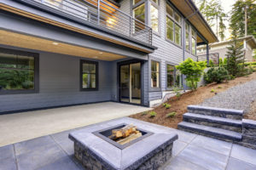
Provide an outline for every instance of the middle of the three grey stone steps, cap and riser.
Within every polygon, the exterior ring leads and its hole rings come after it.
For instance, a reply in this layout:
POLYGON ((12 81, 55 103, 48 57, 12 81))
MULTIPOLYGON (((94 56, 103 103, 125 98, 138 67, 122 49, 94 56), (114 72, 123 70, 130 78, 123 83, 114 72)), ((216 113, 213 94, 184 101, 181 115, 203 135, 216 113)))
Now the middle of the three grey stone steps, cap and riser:
POLYGON ((195 113, 185 113, 183 114, 183 121, 241 133, 242 123, 239 120, 228 119, 218 116, 200 115, 195 113))

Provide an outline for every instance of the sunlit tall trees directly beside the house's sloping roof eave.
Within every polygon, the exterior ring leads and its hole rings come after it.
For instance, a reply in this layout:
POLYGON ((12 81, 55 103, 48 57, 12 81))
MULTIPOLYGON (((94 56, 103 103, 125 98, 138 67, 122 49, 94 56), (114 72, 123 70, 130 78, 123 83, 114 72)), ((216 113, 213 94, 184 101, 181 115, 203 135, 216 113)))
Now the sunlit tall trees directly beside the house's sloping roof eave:
POLYGON ((216 27, 215 34, 217 37, 219 36, 221 40, 224 40, 226 29, 224 20, 226 20, 227 14, 224 13, 221 2, 218 0, 196 0, 195 3, 199 6, 201 14, 204 15, 209 25, 216 27))

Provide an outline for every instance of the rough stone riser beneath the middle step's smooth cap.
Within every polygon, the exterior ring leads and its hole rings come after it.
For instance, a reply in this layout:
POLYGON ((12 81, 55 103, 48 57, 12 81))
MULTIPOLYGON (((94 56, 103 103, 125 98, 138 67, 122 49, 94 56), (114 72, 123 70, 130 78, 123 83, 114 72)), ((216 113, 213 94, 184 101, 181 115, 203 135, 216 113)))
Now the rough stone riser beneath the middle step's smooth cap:
POLYGON ((236 126, 232 126, 232 125, 223 125, 223 124, 219 124, 218 122, 207 122, 205 120, 191 119, 190 117, 183 117, 183 121, 184 122, 192 122, 192 123, 199 124, 199 125, 205 125, 208 127, 222 128, 225 130, 230 130, 230 131, 235 131, 237 133, 241 133, 241 127, 236 127, 236 126))

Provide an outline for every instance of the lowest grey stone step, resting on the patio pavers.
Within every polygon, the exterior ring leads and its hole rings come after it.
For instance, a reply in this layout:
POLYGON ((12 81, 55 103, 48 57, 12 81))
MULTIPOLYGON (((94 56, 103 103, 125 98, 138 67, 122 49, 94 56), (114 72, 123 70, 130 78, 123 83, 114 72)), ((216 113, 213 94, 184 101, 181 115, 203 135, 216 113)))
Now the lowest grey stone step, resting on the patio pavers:
POLYGON ((178 123, 177 128, 190 133, 197 133, 215 139, 222 139, 224 141, 241 141, 241 133, 224 130, 222 128, 207 127, 204 125, 198 125, 191 122, 180 122, 178 123))

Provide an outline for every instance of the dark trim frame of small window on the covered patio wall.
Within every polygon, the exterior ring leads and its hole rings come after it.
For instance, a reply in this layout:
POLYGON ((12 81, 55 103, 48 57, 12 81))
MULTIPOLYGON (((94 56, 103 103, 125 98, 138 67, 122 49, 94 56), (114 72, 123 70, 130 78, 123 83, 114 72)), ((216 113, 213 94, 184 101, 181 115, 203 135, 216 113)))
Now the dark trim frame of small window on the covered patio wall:
POLYGON ((80 59, 80 91, 98 91, 99 89, 99 63, 97 61, 80 59), (89 63, 96 65, 96 88, 83 88, 83 64, 89 63))

